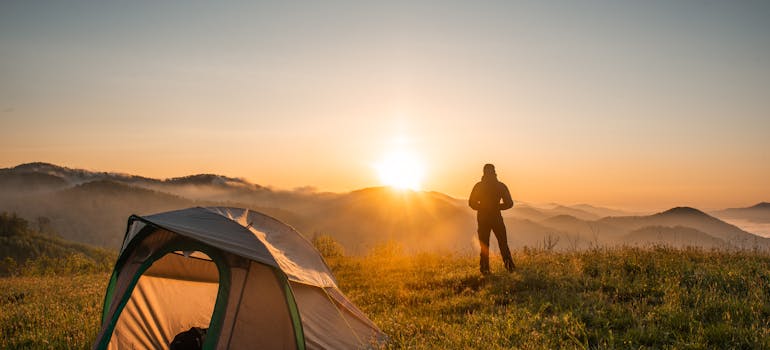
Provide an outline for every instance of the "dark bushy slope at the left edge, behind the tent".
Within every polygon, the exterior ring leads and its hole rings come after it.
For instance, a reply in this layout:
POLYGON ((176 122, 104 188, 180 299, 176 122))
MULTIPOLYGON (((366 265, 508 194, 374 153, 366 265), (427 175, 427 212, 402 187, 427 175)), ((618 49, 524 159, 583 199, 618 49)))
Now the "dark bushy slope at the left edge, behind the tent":
POLYGON ((115 252, 66 241, 15 213, 0 213, 0 276, 106 272, 115 258, 115 252))

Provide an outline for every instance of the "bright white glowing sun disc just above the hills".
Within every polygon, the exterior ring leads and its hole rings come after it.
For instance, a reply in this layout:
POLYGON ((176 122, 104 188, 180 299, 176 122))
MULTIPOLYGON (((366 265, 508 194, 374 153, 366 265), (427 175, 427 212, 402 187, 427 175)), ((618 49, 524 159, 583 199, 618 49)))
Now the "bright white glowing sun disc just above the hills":
POLYGON ((413 153, 392 152, 374 167, 380 181, 385 186, 414 191, 418 191, 422 187, 425 166, 413 153))

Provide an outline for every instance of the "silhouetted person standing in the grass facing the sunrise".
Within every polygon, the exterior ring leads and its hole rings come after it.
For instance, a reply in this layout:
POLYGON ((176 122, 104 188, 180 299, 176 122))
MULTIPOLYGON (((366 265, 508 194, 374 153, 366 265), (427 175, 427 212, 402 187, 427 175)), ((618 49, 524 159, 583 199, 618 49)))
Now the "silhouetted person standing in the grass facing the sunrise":
POLYGON ((515 265, 511 258, 511 250, 508 248, 508 237, 505 232, 505 223, 501 210, 513 207, 513 199, 508 186, 497 181, 495 166, 484 165, 484 175, 481 181, 473 186, 468 205, 476 210, 476 219, 479 224, 479 245, 481 246, 481 273, 489 273, 489 231, 495 232, 497 244, 500 246, 500 254, 503 256, 505 269, 513 271, 515 265))

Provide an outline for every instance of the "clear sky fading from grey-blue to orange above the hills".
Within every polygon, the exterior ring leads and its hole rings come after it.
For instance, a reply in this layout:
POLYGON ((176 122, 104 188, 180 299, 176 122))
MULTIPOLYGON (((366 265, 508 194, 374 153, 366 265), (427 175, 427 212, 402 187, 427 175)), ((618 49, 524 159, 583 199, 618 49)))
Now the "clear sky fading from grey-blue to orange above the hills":
POLYGON ((767 1, 2 1, 0 167, 770 201, 767 1), (381 174, 379 174, 381 175, 381 174))

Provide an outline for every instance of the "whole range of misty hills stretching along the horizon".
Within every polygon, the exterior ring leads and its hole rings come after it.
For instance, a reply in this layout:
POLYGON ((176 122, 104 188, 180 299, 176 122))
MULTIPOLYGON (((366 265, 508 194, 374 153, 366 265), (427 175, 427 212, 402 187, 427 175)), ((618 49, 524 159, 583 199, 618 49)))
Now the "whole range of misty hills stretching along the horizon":
MULTIPOLYGON (((109 249, 120 247, 131 214, 217 205, 262 211, 309 238, 330 235, 354 254, 387 241, 398 242, 411 252, 471 252, 477 246, 475 213, 467 200, 439 192, 385 187, 347 193, 279 191, 216 174, 152 179, 48 163, 0 169, 0 211, 46 223, 65 239, 109 249)), ((762 211, 766 206, 761 203, 744 209, 762 211)), ((684 232, 691 240, 703 238, 703 242, 693 244, 696 246, 770 247, 768 239, 694 208, 673 208, 654 215, 618 214, 628 213, 588 204, 541 208, 517 201, 513 209, 504 212, 504 218, 513 248, 550 245, 582 249, 644 242, 653 240, 650 230, 678 234, 676 237, 684 237, 684 232)), ((495 246, 492 243, 493 249, 495 246)))

